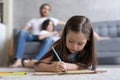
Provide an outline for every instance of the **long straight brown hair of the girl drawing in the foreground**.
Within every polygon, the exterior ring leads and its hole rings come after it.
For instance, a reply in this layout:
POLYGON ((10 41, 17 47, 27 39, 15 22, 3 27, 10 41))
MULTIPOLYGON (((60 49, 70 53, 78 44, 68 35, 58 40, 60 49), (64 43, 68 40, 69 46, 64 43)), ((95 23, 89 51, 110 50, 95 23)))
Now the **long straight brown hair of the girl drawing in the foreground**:
MULTIPOLYGON (((53 45, 63 61, 66 61, 67 54, 69 53, 66 47, 66 35, 68 34, 68 31, 73 31, 76 33, 82 32, 88 37, 88 41, 85 47, 83 50, 79 51, 80 54, 78 56, 81 64, 85 64, 86 67, 92 65, 93 70, 95 70, 97 61, 93 29, 90 20, 85 16, 73 16, 67 21, 61 39, 53 45)), ((53 54, 53 51, 50 50, 48 54, 46 54, 43 58, 51 56, 53 54)), ((55 60, 55 58, 53 60, 55 60)))

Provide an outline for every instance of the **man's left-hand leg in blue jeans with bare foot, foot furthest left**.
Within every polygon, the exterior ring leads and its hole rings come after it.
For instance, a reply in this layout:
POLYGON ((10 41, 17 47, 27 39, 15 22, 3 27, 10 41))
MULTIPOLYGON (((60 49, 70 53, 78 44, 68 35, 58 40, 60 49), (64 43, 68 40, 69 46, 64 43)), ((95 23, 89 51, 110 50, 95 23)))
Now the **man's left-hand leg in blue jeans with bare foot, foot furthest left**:
POLYGON ((22 66, 22 58, 24 54, 25 42, 32 41, 34 39, 33 35, 29 34, 28 31, 20 30, 18 33, 18 41, 15 48, 15 58, 16 61, 10 67, 20 67, 22 66))

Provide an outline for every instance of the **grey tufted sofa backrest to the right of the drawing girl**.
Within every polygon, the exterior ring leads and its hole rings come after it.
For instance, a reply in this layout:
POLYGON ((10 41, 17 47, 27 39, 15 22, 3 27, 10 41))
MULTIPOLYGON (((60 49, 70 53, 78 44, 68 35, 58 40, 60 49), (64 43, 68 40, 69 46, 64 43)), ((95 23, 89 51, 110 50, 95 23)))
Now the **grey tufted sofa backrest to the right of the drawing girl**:
POLYGON ((120 37, 120 20, 94 22, 93 29, 100 36, 120 37))

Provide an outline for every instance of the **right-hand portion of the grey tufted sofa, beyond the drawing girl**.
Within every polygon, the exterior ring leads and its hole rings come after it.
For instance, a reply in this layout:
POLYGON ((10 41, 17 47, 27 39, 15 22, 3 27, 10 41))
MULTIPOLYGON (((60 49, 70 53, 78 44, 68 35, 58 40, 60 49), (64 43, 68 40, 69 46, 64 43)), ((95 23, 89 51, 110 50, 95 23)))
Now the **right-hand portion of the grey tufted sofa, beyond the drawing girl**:
POLYGON ((95 41, 99 64, 120 64, 120 20, 94 22, 93 29, 108 40, 95 41))

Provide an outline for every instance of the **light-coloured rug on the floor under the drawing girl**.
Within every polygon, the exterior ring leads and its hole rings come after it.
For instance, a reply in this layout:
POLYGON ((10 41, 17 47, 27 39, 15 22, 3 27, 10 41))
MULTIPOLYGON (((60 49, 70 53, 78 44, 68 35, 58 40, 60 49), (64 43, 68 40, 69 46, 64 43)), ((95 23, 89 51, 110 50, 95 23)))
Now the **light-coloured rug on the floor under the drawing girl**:
POLYGON ((106 70, 97 74, 70 74, 70 75, 33 75, 34 70, 29 68, 1 67, 0 72, 27 72, 27 75, 0 76, 0 80, 119 80, 120 66, 99 66, 97 70, 106 70))

